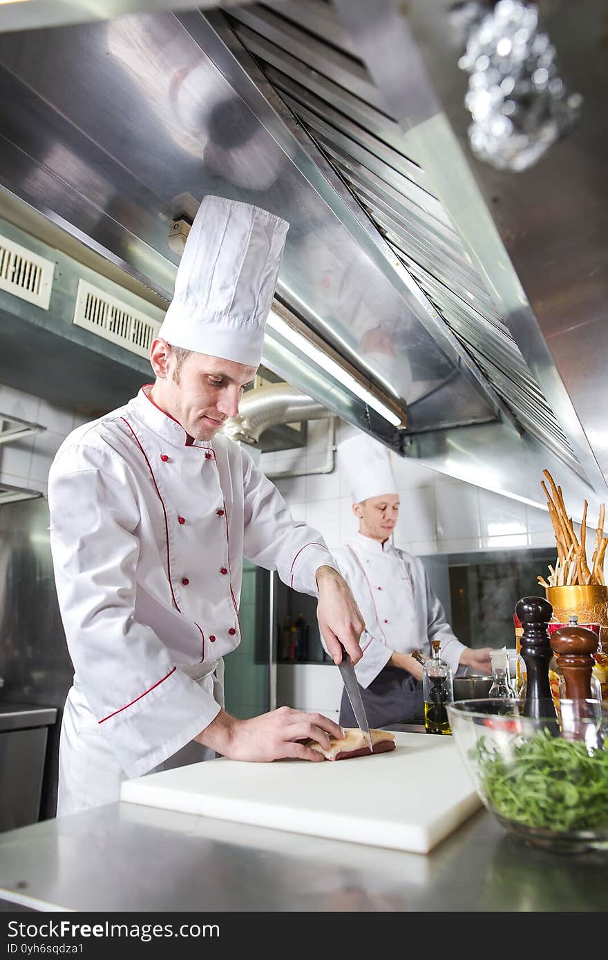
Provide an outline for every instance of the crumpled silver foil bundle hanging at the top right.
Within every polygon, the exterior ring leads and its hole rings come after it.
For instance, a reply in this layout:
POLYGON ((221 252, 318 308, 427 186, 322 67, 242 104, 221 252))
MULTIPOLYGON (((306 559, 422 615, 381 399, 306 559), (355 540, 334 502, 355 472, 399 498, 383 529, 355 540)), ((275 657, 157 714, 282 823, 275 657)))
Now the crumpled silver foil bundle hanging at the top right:
POLYGON ((471 149, 499 170, 532 166, 580 115, 583 98, 559 77, 534 4, 499 0, 474 24, 458 66, 470 74, 471 149))

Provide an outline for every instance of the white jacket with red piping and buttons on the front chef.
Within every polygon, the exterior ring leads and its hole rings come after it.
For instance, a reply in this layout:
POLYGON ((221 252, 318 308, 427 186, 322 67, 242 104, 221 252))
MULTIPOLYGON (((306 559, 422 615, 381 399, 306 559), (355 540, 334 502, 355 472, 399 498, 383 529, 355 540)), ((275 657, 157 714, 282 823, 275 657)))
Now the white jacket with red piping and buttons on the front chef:
POLYGON ((313 596, 316 570, 336 568, 249 453, 224 436, 191 442, 149 390, 73 431, 48 489, 75 669, 61 746, 70 751, 84 729, 101 733, 129 777, 217 715, 222 658, 241 639, 243 555, 313 596))

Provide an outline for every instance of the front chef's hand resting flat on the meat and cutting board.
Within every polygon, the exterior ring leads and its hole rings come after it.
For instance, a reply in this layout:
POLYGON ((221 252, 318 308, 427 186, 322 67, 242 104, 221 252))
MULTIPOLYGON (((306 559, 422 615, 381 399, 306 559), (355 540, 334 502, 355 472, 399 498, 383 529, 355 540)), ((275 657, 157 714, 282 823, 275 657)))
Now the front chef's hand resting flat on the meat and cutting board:
POLYGON ((194 739, 231 760, 264 762, 298 757, 316 763, 325 757, 307 747, 305 741, 315 740, 328 750, 329 737, 341 740, 344 731, 322 713, 280 707, 251 720, 238 720, 226 710, 220 710, 194 739))

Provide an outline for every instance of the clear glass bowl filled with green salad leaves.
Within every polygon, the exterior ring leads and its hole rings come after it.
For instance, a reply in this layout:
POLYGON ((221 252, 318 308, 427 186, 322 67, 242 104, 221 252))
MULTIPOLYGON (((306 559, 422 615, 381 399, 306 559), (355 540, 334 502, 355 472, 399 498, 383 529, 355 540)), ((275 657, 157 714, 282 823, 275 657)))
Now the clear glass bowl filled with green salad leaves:
POLYGON ((560 702, 524 716, 524 700, 450 703, 456 746, 502 827, 552 852, 608 850, 608 705, 560 702))

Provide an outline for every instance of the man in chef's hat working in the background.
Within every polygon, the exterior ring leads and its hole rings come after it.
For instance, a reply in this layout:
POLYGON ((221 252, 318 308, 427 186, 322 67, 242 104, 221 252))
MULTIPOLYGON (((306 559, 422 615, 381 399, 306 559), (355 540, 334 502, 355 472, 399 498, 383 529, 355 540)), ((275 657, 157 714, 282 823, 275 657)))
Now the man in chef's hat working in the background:
MULTIPOLYGON (((400 497, 386 446, 363 433, 338 444, 338 459, 352 491, 359 531, 332 553, 353 590, 365 620, 363 657, 355 673, 371 727, 423 723, 422 665, 431 639, 441 640, 442 660, 453 674, 488 673, 490 648, 472 649, 452 633, 422 561, 393 546, 400 497)), ((357 726, 348 696, 340 708, 343 727, 357 726)))

